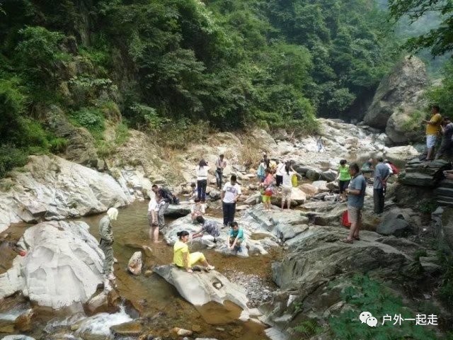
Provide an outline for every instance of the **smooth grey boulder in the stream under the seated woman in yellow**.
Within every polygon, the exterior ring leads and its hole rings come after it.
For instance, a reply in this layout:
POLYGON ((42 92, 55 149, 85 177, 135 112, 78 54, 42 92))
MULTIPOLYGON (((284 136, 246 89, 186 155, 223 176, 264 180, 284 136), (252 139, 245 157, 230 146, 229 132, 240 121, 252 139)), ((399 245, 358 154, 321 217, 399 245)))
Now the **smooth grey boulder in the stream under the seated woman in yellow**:
POLYGON ((223 304, 225 300, 229 300, 243 310, 248 309, 245 290, 217 271, 187 273, 173 265, 157 266, 153 270, 174 285, 180 295, 195 306, 211 301, 223 304))

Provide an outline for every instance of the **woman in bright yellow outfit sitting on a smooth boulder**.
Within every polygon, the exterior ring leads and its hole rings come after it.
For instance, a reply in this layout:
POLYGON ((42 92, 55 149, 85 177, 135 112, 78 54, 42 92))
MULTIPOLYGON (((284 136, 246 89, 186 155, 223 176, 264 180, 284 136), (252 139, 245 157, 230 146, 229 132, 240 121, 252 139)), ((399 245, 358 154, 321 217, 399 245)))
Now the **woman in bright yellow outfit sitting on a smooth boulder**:
POLYGON ((193 273, 192 266, 197 262, 201 262, 208 271, 214 269, 214 266, 207 263, 205 255, 200 253, 200 251, 192 254, 189 253, 189 247, 187 245, 187 242, 189 242, 189 233, 186 230, 178 232, 176 235, 178 236, 178 241, 173 246, 173 263, 176 266, 185 268, 185 271, 188 273, 193 273))

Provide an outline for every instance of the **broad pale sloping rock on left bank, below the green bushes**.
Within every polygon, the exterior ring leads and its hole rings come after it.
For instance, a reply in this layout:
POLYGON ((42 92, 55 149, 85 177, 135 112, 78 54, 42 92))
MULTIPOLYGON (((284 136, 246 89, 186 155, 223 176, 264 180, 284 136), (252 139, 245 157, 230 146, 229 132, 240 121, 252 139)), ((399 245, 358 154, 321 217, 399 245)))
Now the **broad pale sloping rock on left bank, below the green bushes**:
POLYGON ((30 156, 13 186, 0 191, 0 231, 14 222, 62 220, 105 212, 133 200, 108 174, 55 156, 30 156))

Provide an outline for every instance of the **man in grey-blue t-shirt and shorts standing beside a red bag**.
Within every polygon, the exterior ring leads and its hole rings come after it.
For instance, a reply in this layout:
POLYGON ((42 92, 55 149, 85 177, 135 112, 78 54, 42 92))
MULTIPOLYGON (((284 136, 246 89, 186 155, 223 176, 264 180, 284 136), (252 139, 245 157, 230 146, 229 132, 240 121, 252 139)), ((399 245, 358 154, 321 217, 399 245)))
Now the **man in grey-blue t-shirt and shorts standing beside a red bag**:
POLYGON ((348 193, 348 219, 351 222, 351 226, 348 238, 341 240, 341 242, 345 243, 352 243, 354 239, 360 240, 359 231, 362 225, 362 208, 365 200, 365 189, 367 188, 367 181, 360 174, 359 166, 356 163, 350 164, 349 173, 351 181, 346 193, 348 193))

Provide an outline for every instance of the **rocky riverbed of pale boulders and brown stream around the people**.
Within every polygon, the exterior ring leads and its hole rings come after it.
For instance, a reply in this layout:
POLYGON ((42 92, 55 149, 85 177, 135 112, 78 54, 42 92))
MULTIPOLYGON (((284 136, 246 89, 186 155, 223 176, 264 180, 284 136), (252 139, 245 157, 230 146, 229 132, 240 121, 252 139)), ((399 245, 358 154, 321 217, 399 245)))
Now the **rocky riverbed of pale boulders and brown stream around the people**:
MULTIPOLYGON (((192 145, 187 152, 172 155, 168 159, 172 166, 156 161, 155 150, 149 147, 149 140, 141 132, 133 132, 116 157, 105 161, 105 172, 59 157, 32 157, 25 171, 2 182, 4 189, 0 192, 0 229, 4 231, 0 237, 7 242, 21 239, 19 244, 27 252, 25 257, 16 257, 6 243, 1 245, 0 249, 5 249, 8 255, 0 263, 3 268, 0 297, 5 302, 0 307, 0 319, 4 317, 0 333, 25 329, 23 332, 35 339, 55 340, 98 340, 113 336, 115 339, 152 339, 152 336, 178 339, 179 330, 174 330, 177 327, 188 330, 190 339, 201 336, 219 340, 265 339, 266 336, 295 339, 294 329, 301 322, 316 319, 326 326, 328 315, 352 308, 342 300, 340 288, 329 286, 331 282, 343 280, 344 288, 351 282, 352 273, 367 273, 389 282, 390 288, 404 299, 424 299, 425 295, 432 299, 435 291, 430 290, 430 283, 438 280, 442 268, 428 243, 432 242, 432 235, 439 234, 435 232, 439 228, 448 238, 449 223, 442 224, 439 222, 442 218, 437 217, 437 225, 431 224, 430 218, 415 206, 397 206, 398 202, 407 202, 411 194, 404 193, 408 187, 396 183, 396 179, 389 184, 382 216, 371 212, 369 183, 364 212, 367 231, 362 232, 362 239, 355 244, 338 242, 348 232, 340 226, 345 204, 336 201, 338 183, 334 179, 338 161, 383 154, 401 164, 417 151, 411 146, 386 147, 386 136, 364 125, 323 119, 320 124, 326 145, 321 153, 316 152, 314 137, 294 140, 280 131, 273 138, 265 131, 256 130, 247 138, 231 133, 212 135, 206 145, 192 145), (252 146, 258 157, 265 151, 270 158, 294 160, 294 169, 304 176, 304 181, 294 190, 293 210, 282 211, 275 206, 265 212, 256 204, 259 194, 253 164, 243 164, 252 146), (210 250, 198 240, 190 244, 192 251, 203 251, 219 271, 219 276, 209 278, 203 273, 196 274, 200 276, 200 287, 205 284, 214 287, 210 288, 212 302, 200 306, 189 298, 191 305, 181 297, 185 296, 183 291, 187 287, 178 288, 178 278, 168 279, 176 285, 176 290, 152 271, 155 266, 171 263, 171 246, 167 244, 173 244, 179 229, 197 229, 188 217, 181 217, 188 213, 189 205, 171 207, 172 217, 168 218, 177 219, 168 220, 170 223, 163 230, 166 243, 154 245, 147 240, 144 200, 151 183, 168 183, 181 195, 194 180, 192 169, 197 159, 205 157, 213 164, 219 153, 224 153, 229 162, 224 171, 225 181, 230 174, 237 174, 243 188, 237 220, 246 230, 247 248, 237 256, 222 246, 210 250), (166 171, 166 178, 157 175, 166 171), (103 296, 99 294, 103 254, 94 238, 98 237, 101 215, 93 214, 110 206, 127 208, 120 209, 119 220, 114 223, 117 289, 113 295, 103 296), (93 216, 80 220, 84 215, 93 216), (10 227, 11 223, 21 221, 40 224, 10 227), (426 242, 422 242, 423 235, 427 236, 426 242), (141 273, 134 276, 127 272, 126 266, 137 251, 142 251, 143 266, 141 273), (248 301, 219 303, 224 301, 224 296, 230 296, 227 300, 239 298, 231 297, 234 289, 220 292, 226 295, 216 293, 216 285, 218 289, 228 285, 224 278, 233 283, 231 287, 240 286, 248 301), (417 286, 422 288, 417 296, 407 294, 408 289, 417 286), (14 295, 15 292, 18 293, 14 295), (57 319, 43 312, 43 307, 60 309, 57 319), (18 326, 16 320, 18 317, 26 320, 30 308, 34 317, 30 317, 28 324, 33 325, 29 328, 33 331, 18 326), (4 321, 5 315, 9 322, 4 321), (71 315, 77 315, 76 319, 68 319, 71 315), (103 323, 108 327, 96 328, 103 323), (270 331, 265 333, 270 326, 270 331)), ((431 184, 441 169, 430 171, 424 176, 432 176, 431 184)), ((221 223, 219 192, 214 183, 211 177, 207 214, 221 223)), ((273 203, 279 205, 280 200, 273 198, 273 203)))

